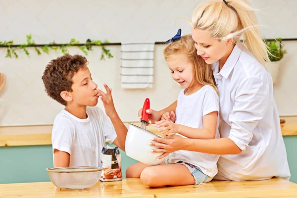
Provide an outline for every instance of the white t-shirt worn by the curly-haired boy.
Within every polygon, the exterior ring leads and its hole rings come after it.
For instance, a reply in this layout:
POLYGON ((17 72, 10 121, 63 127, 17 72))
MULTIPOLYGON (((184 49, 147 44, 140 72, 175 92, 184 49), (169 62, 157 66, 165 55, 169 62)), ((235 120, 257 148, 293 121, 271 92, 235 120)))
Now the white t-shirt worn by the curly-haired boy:
POLYGON ((87 106, 86 119, 63 109, 54 119, 52 150, 68 152, 69 166, 100 166, 105 141, 113 143, 117 135, 107 115, 97 106, 87 106))

